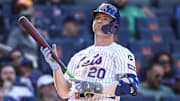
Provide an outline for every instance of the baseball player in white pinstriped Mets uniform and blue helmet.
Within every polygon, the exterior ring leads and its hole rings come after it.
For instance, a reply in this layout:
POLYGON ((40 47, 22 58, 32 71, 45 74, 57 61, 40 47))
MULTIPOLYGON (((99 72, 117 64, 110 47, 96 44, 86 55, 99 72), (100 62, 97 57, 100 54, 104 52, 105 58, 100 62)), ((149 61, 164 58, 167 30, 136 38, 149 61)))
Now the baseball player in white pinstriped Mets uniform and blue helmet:
MULTIPOLYGON (((138 79, 134 55, 114 42, 120 23, 117 8, 102 3, 93 11, 94 45, 75 54, 68 70, 75 78, 63 75, 48 48, 42 48, 53 70, 55 87, 69 101, 119 101, 121 95, 136 95, 138 79)), ((56 45, 52 45, 56 53, 56 45)))

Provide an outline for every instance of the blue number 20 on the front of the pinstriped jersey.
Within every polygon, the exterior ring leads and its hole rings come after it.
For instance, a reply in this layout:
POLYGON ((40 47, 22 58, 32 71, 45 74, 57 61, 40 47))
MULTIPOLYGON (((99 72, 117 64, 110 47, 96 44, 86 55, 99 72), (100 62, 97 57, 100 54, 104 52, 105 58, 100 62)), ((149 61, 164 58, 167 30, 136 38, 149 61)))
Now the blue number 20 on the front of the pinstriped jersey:
POLYGON ((89 69, 88 77, 103 79, 105 76, 105 73, 106 71, 104 68, 91 67, 89 69))

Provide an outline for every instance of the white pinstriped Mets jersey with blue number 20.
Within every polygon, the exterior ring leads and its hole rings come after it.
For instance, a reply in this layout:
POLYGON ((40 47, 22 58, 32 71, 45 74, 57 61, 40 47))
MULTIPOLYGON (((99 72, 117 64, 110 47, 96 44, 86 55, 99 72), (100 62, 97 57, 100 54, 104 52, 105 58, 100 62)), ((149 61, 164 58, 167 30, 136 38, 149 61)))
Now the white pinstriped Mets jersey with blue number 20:
MULTIPOLYGON (((76 79, 98 82, 108 85, 116 80, 116 74, 135 74, 134 55, 125 47, 113 42, 109 46, 92 45, 75 54, 69 64, 68 70, 76 79)), ((69 79, 68 75, 64 77, 69 79)), ((93 98, 75 99, 73 96, 68 101, 119 101, 108 98, 112 95, 97 95, 93 98)))

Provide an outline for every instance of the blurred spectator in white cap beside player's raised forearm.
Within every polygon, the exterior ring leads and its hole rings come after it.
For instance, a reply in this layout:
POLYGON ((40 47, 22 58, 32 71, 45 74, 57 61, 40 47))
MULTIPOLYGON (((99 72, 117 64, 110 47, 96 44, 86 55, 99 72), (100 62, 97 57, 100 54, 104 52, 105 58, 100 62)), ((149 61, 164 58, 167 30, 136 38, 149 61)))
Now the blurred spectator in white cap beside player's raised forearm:
POLYGON ((38 101, 63 101, 57 95, 51 75, 43 75, 37 82, 38 101))

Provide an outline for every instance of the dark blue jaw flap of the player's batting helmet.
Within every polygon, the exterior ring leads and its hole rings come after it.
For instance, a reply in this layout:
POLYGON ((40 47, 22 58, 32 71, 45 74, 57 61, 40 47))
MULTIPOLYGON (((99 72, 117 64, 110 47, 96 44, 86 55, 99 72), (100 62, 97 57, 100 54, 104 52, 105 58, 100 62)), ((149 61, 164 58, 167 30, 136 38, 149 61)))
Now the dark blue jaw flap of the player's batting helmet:
POLYGON ((117 21, 113 21, 110 24, 102 25, 101 30, 105 34, 112 34, 115 33, 118 28, 117 21))

